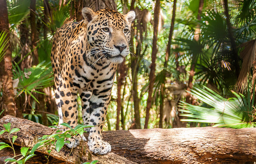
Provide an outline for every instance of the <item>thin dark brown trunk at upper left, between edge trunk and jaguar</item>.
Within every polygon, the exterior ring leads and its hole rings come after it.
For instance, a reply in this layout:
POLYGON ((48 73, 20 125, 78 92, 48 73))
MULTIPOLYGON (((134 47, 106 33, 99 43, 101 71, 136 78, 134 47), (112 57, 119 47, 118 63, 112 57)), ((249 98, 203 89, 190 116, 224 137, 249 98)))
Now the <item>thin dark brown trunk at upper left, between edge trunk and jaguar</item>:
POLYGON ((37 53, 37 42, 38 42, 38 36, 37 36, 37 24, 36 24, 36 0, 30 1, 30 25, 31 25, 31 44, 32 44, 32 55, 33 55, 33 65, 37 65, 39 63, 38 61, 38 53, 37 53))

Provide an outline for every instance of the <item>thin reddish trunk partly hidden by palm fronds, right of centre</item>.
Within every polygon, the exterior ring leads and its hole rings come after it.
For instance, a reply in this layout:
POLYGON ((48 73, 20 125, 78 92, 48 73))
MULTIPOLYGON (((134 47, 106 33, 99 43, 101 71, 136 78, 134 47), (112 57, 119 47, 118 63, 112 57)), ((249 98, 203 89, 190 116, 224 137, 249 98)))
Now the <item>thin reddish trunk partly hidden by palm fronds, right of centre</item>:
MULTIPOLYGON (((201 13, 204 7, 204 0, 200 0, 199 1, 199 7, 198 7, 198 13, 197 13, 197 20, 200 21, 201 20, 201 13)), ((194 40, 195 41, 199 41, 199 37, 200 37, 200 25, 198 24, 195 27, 195 34, 194 34, 194 40)), ((191 67, 190 67, 190 73, 189 73, 189 82, 188 82, 188 87, 187 87, 187 91, 190 91, 193 87, 193 77, 195 75, 195 62, 193 61, 193 57, 192 57, 192 62, 191 62, 191 67)), ((187 92, 186 95, 186 103, 191 103, 190 102, 190 97, 191 94, 189 92, 187 92)))

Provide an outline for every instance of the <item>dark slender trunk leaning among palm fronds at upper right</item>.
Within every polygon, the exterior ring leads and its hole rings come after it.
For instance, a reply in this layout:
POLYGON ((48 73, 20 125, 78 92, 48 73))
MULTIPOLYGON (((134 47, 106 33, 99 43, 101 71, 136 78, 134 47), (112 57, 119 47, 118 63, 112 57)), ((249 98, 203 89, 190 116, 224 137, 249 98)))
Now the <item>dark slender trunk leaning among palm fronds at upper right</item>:
POLYGON ((234 58, 234 67, 235 67, 235 71, 236 71, 236 78, 238 78, 239 73, 240 73, 238 50, 236 48, 236 42, 235 42, 234 35, 232 32, 232 25, 230 23, 230 16, 228 13, 228 0, 224 0, 223 2, 224 2, 223 5, 224 5, 225 15, 226 15, 226 22, 228 25, 228 34, 229 34, 231 49, 232 49, 233 58, 234 58))

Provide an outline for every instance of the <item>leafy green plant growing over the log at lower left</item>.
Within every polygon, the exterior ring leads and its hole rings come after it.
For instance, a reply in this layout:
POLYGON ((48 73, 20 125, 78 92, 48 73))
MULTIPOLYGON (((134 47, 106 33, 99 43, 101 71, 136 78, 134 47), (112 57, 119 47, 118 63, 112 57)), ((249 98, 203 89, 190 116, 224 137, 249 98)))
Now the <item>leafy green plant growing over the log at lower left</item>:
MULTIPOLYGON (((18 164, 24 164, 29 158, 35 156, 34 154, 35 151, 37 149, 40 149, 41 147, 46 147, 46 150, 48 151, 49 155, 50 155, 50 152, 52 151, 51 149, 52 145, 54 146, 56 151, 59 152, 65 143, 70 143, 68 140, 66 140, 66 138, 71 138, 74 135, 83 135, 84 128, 92 127, 89 125, 78 125, 73 129, 67 123, 62 123, 61 125, 66 126, 67 128, 70 128, 70 130, 67 130, 64 133, 62 133, 61 130, 57 130, 56 134, 44 135, 43 137, 39 137, 37 139, 37 143, 33 147, 22 147, 20 149, 20 154, 16 155, 15 149, 13 147, 13 143, 17 139, 17 136, 13 135, 13 137, 11 138, 10 135, 14 132, 18 132, 20 129, 19 128, 11 129, 10 122, 7 124, 4 124, 5 130, 0 131, 0 135, 2 135, 4 132, 8 132, 8 139, 11 145, 4 142, 0 142, 0 150, 6 147, 10 147, 11 149, 13 149, 13 153, 14 153, 14 156, 12 158, 7 158, 4 160, 6 162, 5 164, 7 164, 8 162, 16 162, 18 164), (15 158, 18 158, 18 159, 15 159, 15 158)), ((95 164, 98 161, 93 161, 93 162, 91 162, 91 164, 95 164)), ((87 163, 85 162, 85 164, 87 163)))

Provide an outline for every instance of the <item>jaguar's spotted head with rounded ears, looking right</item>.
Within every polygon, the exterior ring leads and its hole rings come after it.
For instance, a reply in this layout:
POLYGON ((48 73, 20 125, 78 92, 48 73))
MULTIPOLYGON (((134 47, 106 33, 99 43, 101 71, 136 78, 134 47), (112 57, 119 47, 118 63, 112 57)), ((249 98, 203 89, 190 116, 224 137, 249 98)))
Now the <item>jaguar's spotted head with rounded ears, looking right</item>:
POLYGON ((135 12, 123 15, 108 9, 94 12, 85 7, 82 15, 87 26, 86 37, 91 55, 99 55, 112 63, 121 63, 129 54, 130 26, 135 19, 135 12))

